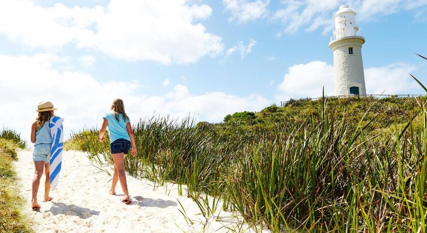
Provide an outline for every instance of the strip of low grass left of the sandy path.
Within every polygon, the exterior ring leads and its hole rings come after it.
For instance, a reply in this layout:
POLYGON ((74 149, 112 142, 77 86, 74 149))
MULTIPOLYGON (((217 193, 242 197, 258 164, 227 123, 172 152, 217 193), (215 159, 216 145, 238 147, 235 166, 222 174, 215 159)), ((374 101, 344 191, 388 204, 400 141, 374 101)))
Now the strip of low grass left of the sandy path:
POLYGON ((19 134, 7 129, 0 132, 0 232, 32 232, 19 211, 24 201, 12 165, 18 147, 25 147, 19 134))

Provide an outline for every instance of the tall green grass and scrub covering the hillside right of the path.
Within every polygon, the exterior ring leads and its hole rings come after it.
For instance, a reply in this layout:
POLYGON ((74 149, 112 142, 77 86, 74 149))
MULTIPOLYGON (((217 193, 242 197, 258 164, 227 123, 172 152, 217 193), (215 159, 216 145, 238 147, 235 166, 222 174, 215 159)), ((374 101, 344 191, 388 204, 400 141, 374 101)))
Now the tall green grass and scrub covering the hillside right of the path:
MULTIPOLYGON (((151 118, 133 126, 139 153, 126 170, 159 185, 187 184, 206 218, 222 199, 223 209, 275 232, 425 233, 426 105, 425 97, 322 98, 219 124, 151 118)), ((108 141, 97 135, 88 130, 68 143, 111 165, 108 141)))

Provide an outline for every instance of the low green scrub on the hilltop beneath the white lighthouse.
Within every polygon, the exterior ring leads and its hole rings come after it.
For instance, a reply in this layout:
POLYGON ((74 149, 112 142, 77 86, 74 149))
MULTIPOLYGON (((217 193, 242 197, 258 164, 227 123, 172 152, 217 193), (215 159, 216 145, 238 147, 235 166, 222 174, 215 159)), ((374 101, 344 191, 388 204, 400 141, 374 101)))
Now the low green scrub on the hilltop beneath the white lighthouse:
MULTIPOLYGON (((286 126, 313 121, 319 124, 322 121, 322 106, 324 112, 333 115, 337 121, 345 121, 349 130, 354 130, 358 124, 367 125, 365 133, 382 133, 393 131, 394 122, 401 128, 406 124, 409 115, 414 115, 421 109, 420 100, 427 98, 327 98, 312 101, 310 99, 290 100, 285 107, 271 105, 259 112, 236 112, 226 115, 223 123, 210 124, 200 122, 196 127, 207 131, 221 140, 257 140, 261 135, 275 135, 286 126)), ((415 127, 422 121, 416 118, 415 127)))

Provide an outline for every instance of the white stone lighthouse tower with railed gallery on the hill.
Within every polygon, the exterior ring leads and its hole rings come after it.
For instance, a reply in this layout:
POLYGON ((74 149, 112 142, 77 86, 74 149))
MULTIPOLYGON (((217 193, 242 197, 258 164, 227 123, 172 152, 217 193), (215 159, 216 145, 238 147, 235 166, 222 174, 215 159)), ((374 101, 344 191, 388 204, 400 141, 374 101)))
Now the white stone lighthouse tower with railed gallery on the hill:
POLYGON ((356 26, 356 12, 342 5, 333 19, 335 30, 329 48, 333 52, 335 95, 366 95, 362 45, 364 38, 356 26))

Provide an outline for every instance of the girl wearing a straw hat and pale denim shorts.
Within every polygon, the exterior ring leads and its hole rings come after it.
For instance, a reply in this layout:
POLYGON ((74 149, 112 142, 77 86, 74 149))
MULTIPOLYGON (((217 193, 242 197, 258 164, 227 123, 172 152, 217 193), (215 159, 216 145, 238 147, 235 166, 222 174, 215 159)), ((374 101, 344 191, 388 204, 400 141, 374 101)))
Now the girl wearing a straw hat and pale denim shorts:
POLYGON ((49 121, 53 115, 53 108, 51 102, 41 102, 36 111, 39 112, 36 122, 31 127, 31 142, 34 143, 33 161, 36 171, 33 177, 33 198, 31 207, 34 211, 40 210, 40 205, 37 202, 37 192, 39 191, 40 179, 43 175, 43 167, 45 166, 45 195, 43 202, 51 201, 49 197, 50 182, 49 182, 49 163, 50 163, 50 128, 49 121))

